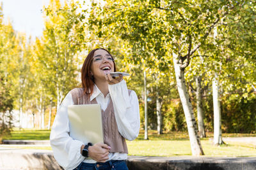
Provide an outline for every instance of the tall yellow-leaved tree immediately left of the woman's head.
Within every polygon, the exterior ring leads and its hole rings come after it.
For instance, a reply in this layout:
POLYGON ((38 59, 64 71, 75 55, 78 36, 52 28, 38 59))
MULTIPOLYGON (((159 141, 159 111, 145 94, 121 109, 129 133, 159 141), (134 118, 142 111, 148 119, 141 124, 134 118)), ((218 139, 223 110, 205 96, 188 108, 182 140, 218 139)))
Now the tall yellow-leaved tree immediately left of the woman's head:
MULTIPOLYGON (((78 82, 77 62, 78 53, 83 47, 84 27, 79 25, 84 15, 77 12, 76 4, 65 3, 61 6, 60 1, 51 0, 45 8, 45 30, 42 40, 36 43, 36 55, 44 69, 42 92, 49 92, 42 96, 50 103, 51 98, 56 99, 57 108, 67 92, 76 87, 78 82), (44 90, 45 89, 45 90, 44 90)), ((39 100, 43 101, 43 100, 39 100)), ((42 104, 41 104, 42 105, 42 104)))

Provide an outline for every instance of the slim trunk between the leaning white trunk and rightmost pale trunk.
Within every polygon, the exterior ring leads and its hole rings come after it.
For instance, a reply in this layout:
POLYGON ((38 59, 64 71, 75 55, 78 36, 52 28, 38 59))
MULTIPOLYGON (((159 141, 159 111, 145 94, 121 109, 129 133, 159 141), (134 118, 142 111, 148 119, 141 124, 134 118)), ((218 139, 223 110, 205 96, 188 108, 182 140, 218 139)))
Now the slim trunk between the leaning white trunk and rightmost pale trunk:
POLYGON ((197 108, 199 136, 200 136, 200 138, 205 138, 204 113, 203 113, 203 109, 202 109, 202 88, 201 88, 201 77, 200 76, 196 76, 196 108, 197 108))

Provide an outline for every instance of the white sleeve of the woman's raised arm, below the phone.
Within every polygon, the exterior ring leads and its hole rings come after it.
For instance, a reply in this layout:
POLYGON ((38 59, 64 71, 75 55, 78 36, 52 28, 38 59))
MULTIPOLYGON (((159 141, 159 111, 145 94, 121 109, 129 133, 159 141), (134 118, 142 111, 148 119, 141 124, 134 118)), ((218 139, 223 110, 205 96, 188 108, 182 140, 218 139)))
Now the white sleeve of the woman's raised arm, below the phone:
POLYGON ((134 91, 129 95, 124 80, 108 85, 113 101, 118 131, 124 138, 134 140, 140 131, 140 108, 138 97, 134 91))

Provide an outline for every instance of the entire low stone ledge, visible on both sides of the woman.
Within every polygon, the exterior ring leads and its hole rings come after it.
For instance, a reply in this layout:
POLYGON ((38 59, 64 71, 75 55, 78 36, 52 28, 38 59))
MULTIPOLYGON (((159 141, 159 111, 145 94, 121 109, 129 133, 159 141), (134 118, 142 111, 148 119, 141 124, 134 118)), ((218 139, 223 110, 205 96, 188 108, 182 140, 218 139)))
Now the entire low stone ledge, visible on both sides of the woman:
MULTIPOLYGON (((1 145, 0 145, 1 146, 1 145)), ((136 169, 256 170, 256 157, 140 157, 129 156, 127 166, 136 169)), ((0 169, 62 169, 51 150, 0 147, 0 169)))

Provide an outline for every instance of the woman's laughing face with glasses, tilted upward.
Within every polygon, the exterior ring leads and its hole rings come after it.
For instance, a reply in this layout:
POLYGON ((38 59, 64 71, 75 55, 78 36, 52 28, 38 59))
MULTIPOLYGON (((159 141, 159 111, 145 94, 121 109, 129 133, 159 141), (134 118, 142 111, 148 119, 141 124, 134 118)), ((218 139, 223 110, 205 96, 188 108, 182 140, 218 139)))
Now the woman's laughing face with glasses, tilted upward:
POLYGON ((112 56, 105 50, 96 50, 93 54, 92 74, 95 80, 104 78, 107 73, 114 72, 114 62, 112 56))

